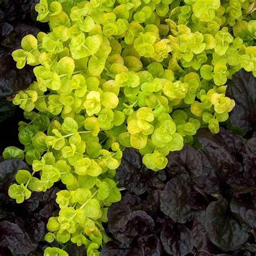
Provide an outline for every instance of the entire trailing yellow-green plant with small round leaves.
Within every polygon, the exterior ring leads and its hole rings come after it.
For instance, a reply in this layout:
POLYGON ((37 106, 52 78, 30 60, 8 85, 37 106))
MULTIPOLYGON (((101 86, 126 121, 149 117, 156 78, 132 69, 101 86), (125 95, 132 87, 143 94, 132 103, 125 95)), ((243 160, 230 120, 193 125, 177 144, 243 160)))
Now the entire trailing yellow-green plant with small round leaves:
POLYGON ((12 53, 37 78, 13 100, 29 119, 24 150, 3 154, 33 171, 20 170, 9 194, 21 203, 61 181, 45 239, 98 255, 125 147, 163 169, 199 127, 218 133, 235 105, 227 79, 241 68, 256 75, 254 1, 41 0, 36 10, 51 32, 25 36, 12 53))

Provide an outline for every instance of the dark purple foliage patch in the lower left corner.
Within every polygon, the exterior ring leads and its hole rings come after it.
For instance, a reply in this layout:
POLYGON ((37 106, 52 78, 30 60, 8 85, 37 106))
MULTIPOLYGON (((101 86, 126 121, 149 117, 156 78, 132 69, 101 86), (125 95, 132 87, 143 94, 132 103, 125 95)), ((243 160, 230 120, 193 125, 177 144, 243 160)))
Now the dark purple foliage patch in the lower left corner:
POLYGON ((29 170, 20 159, 4 160, 0 163, 0 251, 3 255, 43 255, 46 224, 58 209, 55 202, 59 188, 52 187, 45 194, 35 193, 23 204, 17 205, 8 196, 8 187, 16 182, 19 169, 29 170))

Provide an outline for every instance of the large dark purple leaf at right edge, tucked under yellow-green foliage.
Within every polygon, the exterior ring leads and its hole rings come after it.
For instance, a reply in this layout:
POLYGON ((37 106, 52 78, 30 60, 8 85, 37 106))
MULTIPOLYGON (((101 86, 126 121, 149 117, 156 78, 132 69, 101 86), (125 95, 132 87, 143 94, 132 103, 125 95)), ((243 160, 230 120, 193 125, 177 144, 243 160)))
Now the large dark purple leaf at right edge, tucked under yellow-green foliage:
POLYGON ((256 78, 252 72, 244 69, 232 76, 226 95, 235 100, 235 107, 230 112, 232 125, 241 127, 245 132, 252 130, 256 124, 256 78))

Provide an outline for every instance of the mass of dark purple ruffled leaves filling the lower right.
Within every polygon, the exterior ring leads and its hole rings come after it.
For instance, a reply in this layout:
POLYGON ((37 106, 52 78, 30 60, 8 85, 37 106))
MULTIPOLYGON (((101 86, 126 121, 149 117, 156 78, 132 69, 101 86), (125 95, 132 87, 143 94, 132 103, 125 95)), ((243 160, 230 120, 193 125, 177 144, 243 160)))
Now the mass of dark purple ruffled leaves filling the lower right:
POLYGON ((201 149, 170 153, 157 173, 125 151, 117 177, 128 192, 110 207, 114 241, 101 255, 254 255, 256 136, 243 144, 200 130, 198 139, 201 149))

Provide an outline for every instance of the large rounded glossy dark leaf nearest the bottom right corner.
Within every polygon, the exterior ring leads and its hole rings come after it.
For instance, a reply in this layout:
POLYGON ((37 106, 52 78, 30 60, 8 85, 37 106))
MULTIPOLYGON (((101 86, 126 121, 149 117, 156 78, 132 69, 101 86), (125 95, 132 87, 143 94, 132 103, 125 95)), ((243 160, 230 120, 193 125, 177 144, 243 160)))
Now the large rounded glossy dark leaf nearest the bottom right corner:
POLYGON ((226 199, 210 203, 204 218, 209 239, 223 251, 236 250, 248 239, 248 228, 232 217, 229 205, 226 199))

